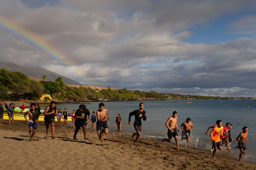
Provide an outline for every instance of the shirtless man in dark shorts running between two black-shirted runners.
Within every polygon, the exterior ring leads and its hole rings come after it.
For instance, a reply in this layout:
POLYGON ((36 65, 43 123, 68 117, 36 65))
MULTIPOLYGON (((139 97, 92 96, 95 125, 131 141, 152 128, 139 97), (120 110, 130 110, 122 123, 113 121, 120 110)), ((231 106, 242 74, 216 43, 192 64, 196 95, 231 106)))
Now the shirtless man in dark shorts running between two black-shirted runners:
POLYGON ((107 122, 106 122, 106 118, 107 118, 107 109, 104 109, 105 105, 104 103, 99 103, 98 104, 98 110, 96 112, 96 116, 97 116, 97 123, 96 123, 96 130, 97 130, 97 135, 98 135, 98 139, 102 142, 102 144, 104 145, 104 141, 102 138, 103 133, 104 134, 108 134, 108 128, 107 128, 107 122), (101 131, 101 127, 103 128, 101 131))

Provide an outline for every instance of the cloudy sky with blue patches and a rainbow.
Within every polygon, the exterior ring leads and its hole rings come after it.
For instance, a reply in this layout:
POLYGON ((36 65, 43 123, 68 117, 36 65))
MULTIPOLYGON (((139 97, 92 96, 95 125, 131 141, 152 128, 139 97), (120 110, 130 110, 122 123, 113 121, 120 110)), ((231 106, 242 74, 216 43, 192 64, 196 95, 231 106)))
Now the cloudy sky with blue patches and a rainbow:
POLYGON ((256 1, 1 0, 0 61, 84 85, 256 97, 256 1))

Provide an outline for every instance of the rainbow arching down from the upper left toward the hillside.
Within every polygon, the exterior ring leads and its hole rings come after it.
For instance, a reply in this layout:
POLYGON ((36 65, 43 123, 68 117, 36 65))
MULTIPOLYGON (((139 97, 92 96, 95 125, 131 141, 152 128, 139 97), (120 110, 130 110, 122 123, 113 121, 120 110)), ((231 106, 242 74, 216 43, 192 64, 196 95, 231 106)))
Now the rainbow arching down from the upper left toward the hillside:
POLYGON ((72 67, 73 62, 67 56, 65 56, 59 49, 57 49, 53 44, 47 41, 44 37, 36 34, 29 29, 13 22, 12 20, 3 17, 0 14, 0 28, 5 30, 6 32, 14 35, 18 39, 30 44, 36 49, 42 51, 44 54, 50 56, 53 60, 56 60, 61 65, 70 67, 73 69, 74 74, 78 74, 81 78, 83 84, 92 85, 88 79, 86 79, 83 75, 81 75, 80 70, 72 67))

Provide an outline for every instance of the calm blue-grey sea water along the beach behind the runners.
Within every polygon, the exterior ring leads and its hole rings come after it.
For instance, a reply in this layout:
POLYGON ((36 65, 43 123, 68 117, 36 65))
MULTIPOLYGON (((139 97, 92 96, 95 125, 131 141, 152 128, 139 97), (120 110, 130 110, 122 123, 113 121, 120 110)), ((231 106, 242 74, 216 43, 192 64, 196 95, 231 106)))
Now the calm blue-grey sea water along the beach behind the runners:
MULTIPOLYGON (((134 116, 131 117, 131 125, 128 125, 128 115, 133 110, 139 109, 139 103, 141 101, 119 101, 119 102, 103 102, 105 108, 108 109, 110 124, 108 125, 109 133, 131 135, 134 131, 133 122, 134 116), (117 131, 115 125, 115 118, 117 114, 120 114, 122 119, 121 129, 117 131)), ((92 113, 96 113, 98 104, 100 102, 85 102, 86 108, 92 113)), ((242 160, 246 162, 256 163, 256 100, 226 100, 226 102, 220 102, 220 100, 167 100, 163 101, 143 101, 144 110, 146 112, 146 121, 142 121, 141 138, 147 138, 151 140, 161 141, 167 138, 167 128, 165 127, 166 120, 172 116, 172 112, 177 112, 177 125, 180 132, 178 132, 179 146, 186 147, 186 140, 181 140, 181 128, 180 125, 185 122, 186 118, 190 118, 193 123, 193 130, 190 132, 189 145, 191 148, 198 150, 211 150, 210 131, 205 135, 205 132, 209 126, 216 125, 216 120, 221 120, 223 126, 228 122, 232 124, 230 150, 232 153, 228 153, 225 147, 222 151, 217 151, 217 154, 221 154, 227 157, 238 159, 239 149, 235 149, 237 141, 235 138, 242 132, 242 127, 248 127, 248 143, 246 143, 246 155, 242 156, 242 160), (191 103, 189 103, 191 102, 191 103)), ((80 104, 57 104, 56 107, 64 111, 67 109, 68 113, 72 110, 78 109, 80 104)), ((41 105, 41 109, 46 105, 41 105)), ((70 123, 70 122, 69 122, 70 123)), ((89 129, 91 124, 89 124, 89 129)), ((90 130, 89 130, 90 131, 90 130)), ((175 145, 173 139, 172 143, 175 145)), ((166 144, 167 145, 167 144, 166 144)))

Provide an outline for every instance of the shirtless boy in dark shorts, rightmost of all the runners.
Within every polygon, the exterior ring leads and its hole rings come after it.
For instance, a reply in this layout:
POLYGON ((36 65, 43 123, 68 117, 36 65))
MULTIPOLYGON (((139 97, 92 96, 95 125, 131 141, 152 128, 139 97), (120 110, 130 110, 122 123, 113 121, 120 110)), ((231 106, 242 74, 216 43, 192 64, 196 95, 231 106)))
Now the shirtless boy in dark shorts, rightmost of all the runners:
POLYGON ((238 147, 236 148, 239 148, 240 150, 239 161, 241 161, 242 154, 246 154, 245 141, 248 143, 247 135, 248 135, 248 128, 244 126, 242 128, 242 132, 238 135, 238 137, 236 137, 236 140, 238 141, 238 147))

